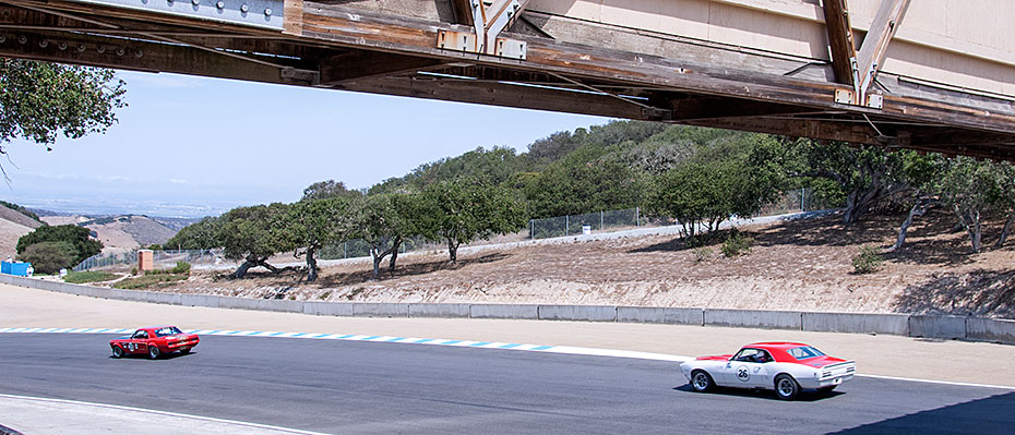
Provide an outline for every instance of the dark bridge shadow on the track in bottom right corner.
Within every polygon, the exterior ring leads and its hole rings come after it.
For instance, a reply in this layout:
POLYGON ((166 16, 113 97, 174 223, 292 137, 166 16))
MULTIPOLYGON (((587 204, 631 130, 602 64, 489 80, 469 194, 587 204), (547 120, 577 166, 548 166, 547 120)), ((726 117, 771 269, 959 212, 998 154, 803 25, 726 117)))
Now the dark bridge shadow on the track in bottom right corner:
POLYGON ((1015 392, 970 400, 921 411, 876 423, 834 432, 835 434, 1003 434, 1015 423, 1015 392))

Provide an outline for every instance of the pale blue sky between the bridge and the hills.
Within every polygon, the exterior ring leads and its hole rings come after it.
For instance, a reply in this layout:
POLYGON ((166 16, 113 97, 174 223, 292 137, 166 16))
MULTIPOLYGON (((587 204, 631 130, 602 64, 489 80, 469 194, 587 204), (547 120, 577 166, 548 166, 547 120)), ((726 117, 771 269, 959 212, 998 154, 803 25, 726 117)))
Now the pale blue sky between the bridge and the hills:
POLYGON ((524 152, 606 118, 121 72, 129 107, 104 135, 47 153, 7 144, 0 198, 57 212, 204 216, 292 202, 334 179, 368 188, 477 146, 524 152))

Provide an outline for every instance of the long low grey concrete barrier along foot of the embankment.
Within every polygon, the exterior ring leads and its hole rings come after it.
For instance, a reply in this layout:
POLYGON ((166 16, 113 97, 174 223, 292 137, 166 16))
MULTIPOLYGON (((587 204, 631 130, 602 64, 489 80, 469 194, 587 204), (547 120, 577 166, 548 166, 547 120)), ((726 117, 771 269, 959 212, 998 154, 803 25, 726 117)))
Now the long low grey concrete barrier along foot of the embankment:
POLYGON ((886 334, 1015 345, 1015 321, 923 314, 814 313, 696 307, 375 303, 248 299, 80 286, 0 275, 0 283, 92 298, 214 309, 258 310, 346 317, 461 317, 729 326, 821 333, 886 334))

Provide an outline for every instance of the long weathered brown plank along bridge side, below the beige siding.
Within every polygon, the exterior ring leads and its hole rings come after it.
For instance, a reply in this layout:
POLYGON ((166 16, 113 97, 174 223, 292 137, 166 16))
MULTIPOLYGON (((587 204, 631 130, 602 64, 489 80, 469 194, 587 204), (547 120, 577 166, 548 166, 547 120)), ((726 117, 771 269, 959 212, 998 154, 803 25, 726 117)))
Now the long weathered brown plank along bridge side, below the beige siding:
POLYGON ((304 37, 336 45, 871 116, 892 113, 910 121, 1015 133, 1015 114, 993 113, 988 119, 980 113, 974 114, 977 110, 972 108, 922 98, 886 96, 883 110, 845 106, 833 99, 834 90, 839 86, 828 83, 717 69, 681 59, 664 59, 522 35, 512 37, 528 44, 526 61, 477 56, 435 47, 433 41, 440 29, 463 31, 461 27, 362 11, 356 11, 357 20, 350 20, 353 11, 349 9, 319 3, 310 3, 304 11, 304 37), (916 105, 920 109, 910 110, 916 105))

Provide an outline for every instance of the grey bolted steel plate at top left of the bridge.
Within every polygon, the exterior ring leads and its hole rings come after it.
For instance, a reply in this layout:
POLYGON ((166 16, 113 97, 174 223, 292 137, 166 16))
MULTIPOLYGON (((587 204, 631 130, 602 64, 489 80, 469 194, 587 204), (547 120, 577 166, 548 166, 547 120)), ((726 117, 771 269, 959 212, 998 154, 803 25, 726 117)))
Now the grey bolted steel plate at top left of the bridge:
POLYGON ((284 0, 75 0, 100 4, 241 24, 272 29, 283 28, 284 0))

